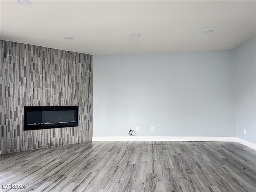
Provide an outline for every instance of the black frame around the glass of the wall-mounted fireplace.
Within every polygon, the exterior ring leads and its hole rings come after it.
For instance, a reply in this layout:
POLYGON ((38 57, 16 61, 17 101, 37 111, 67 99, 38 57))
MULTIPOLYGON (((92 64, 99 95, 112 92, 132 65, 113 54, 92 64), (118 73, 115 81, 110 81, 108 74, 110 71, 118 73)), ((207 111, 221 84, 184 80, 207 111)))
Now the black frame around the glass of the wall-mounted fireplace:
POLYGON ((77 127, 78 126, 78 106, 24 106, 24 126, 23 130, 38 130, 38 129, 51 129, 51 128, 62 128, 62 127, 77 127), (27 112, 36 111, 66 111, 74 110, 76 112, 75 122, 68 122, 62 124, 36 124, 27 125, 27 112))

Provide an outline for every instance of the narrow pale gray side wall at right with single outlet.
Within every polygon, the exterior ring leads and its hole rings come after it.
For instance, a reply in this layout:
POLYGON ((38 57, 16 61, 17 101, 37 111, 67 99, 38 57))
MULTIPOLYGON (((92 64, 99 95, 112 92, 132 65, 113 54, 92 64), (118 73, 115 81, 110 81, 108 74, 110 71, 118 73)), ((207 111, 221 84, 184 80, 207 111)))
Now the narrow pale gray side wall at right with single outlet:
POLYGON ((236 134, 238 138, 256 143, 256 38, 233 50, 236 103, 236 134), (246 134, 244 134, 246 129, 246 134))

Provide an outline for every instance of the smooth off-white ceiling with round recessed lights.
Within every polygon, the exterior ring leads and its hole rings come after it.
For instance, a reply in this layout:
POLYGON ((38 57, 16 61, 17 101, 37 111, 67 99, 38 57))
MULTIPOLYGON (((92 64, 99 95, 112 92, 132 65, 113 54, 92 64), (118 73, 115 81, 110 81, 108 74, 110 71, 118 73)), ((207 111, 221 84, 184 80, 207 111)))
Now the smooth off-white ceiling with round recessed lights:
POLYGON ((1 39, 97 55, 233 49, 256 34, 256 1, 30 2, 1 0, 1 39))

